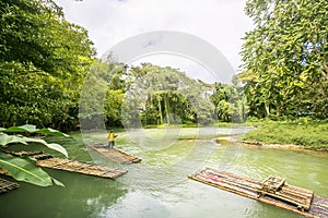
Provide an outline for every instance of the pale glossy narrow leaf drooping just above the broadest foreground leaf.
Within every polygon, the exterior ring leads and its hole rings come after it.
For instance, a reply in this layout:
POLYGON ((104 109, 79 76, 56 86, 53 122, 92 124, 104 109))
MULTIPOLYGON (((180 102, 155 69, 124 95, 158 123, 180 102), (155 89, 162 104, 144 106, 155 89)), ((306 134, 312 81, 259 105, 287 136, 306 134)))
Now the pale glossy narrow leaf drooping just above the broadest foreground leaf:
POLYGON ((67 150, 59 144, 47 143, 44 140, 25 137, 22 135, 7 135, 5 133, 0 133, 0 145, 5 146, 10 143, 22 143, 25 145, 27 143, 40 143, 40 144, 47 146, 48 148, 57 150, 57 152, 63 154, 66 157, 68 157, 67 150))

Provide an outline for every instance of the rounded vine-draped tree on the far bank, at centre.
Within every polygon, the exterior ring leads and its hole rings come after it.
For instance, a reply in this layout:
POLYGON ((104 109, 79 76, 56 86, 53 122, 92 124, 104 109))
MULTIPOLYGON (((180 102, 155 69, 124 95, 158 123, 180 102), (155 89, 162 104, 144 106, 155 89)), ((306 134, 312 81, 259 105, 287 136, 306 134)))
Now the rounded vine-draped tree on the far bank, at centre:
POLYGON ((208 95, 210 86, 189 78, 177 69, 143 63, 141 68, 131 69, 129 80, 128 104, 122 111, 129 118, 126 122, 132 121, 130 124, 207 124, 213 121, 214 106, 208 95), (132 108, 128 108, 129 105, 132 108))

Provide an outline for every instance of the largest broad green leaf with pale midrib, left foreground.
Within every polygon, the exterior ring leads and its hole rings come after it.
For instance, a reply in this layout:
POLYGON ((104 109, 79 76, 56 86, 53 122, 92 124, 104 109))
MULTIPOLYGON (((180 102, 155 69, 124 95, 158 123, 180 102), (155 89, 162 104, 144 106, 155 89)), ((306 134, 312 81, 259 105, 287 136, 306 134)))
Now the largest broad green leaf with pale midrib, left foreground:
POLYGON ((8 154, 0 153, 0 167, 7 170, 17 181, 40 186, 49 186, 52 184, 48 173, 30 159, 11 157, 8 154))

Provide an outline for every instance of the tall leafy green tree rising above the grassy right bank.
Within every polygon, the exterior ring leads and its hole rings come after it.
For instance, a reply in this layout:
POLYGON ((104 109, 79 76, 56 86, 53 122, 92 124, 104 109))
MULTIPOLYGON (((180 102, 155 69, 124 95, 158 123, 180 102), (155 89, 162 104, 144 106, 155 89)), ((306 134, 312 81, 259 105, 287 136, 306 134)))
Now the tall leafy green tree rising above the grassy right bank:
POLYGON ((255 23, 244 38, 239 74, 250 114, 327 118, 327 1, 248 0, 245 10, 255 23))

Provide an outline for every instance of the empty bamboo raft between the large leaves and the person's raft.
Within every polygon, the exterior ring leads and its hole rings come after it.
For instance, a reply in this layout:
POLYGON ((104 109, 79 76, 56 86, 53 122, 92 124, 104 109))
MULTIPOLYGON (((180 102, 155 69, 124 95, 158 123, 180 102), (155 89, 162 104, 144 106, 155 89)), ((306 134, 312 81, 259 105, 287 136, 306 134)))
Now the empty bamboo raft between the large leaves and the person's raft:
POLYGON ((97 165, 91 165, 78 160, 67 159, 67 158, 58 158, 52 155, 44 154, 43 152, 34 152, 34 153, 15 153, 15 156, 28 156, 31 158, 36 159, 36 165, 40 167, 46 167, 50 169, 65 170, 69 172, 78 172, 82 174, 89 174, 101 178, 109 178, 116 179, 125 173, 127 170, 113 169, 108 167, 102 167, 97 165))

